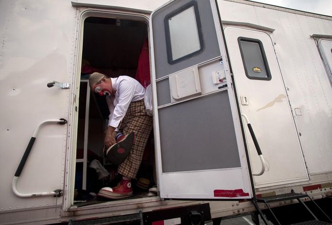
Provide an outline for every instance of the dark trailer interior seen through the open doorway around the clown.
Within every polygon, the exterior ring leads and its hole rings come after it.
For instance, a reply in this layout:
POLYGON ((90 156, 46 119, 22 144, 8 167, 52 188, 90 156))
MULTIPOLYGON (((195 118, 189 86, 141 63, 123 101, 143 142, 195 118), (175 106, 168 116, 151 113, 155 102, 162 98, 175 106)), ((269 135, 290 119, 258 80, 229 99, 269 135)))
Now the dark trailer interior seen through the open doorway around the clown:
MULTIPOLYGON (((148 52, 148 26, 144 21, 98 17, 85 19, 74 194, 77 206, 110 201, 96 194, 102 187, 115 187, 121 179, 117 174, 117 165, 110 164, 104 156, 104 132, 110 112, 105 98, 89 91, 89 76, 93 72, 108 77, 128 75, 146 87, 149 84, 149 65, 145 65, 148 78, 146 74, 142 77, 136 73, 143 51, 148 52), (84 162, 86 170, 83 169, 84 162)), ((148 189, 155 186, 154 168, 152 131, 139 172, 132 181, 133 196, 130 198, 152 196, 148 189)))

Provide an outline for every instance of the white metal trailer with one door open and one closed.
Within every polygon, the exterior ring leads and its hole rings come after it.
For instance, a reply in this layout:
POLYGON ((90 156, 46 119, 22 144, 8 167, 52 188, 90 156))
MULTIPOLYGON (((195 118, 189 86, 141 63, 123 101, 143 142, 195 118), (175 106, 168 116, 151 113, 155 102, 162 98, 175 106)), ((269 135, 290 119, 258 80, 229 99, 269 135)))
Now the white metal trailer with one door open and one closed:
POLYGON ((1 225, 217 222, 331 199, 331 17, 247 0, 0 0, 0 79, 1 225), (82 65, 135 76, 146 38, 158 196, 78 204, 107 117, 82 65))

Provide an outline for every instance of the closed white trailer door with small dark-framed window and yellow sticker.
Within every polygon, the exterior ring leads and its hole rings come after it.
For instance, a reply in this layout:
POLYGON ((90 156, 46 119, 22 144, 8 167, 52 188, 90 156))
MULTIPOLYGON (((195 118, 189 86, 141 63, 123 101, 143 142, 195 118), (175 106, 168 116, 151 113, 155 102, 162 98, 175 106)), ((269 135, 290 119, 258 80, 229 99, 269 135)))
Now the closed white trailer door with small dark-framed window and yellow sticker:
MULTIPOLYGON (((224 29, 241 113, 248 116, 266 161, 256 187, 308 180, 298 134, 272 39, 261 31, 224 29)), ((244 121, 245 124, 245 121, 244 121)), ((245 128, 253 170, 260 161, 245 128)))

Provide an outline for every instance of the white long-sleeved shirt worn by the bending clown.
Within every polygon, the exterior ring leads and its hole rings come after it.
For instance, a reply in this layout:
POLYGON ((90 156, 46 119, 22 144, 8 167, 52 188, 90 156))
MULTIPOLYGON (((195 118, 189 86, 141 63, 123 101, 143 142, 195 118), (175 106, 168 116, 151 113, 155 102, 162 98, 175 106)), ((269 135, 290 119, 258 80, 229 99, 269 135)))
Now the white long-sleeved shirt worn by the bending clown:
POLYGON ((111 78, 113 94, 106 96, 109 106, 109 126, 117 128, 125 117, 130 102, 144 99, 145 88, 130 76, 111 78))

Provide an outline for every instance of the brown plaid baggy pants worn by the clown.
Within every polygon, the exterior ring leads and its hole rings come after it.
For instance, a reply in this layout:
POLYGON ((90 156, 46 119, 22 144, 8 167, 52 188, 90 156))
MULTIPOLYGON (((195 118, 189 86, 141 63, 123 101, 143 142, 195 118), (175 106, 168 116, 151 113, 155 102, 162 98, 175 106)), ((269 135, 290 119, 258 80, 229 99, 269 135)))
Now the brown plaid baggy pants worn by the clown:
POLYGON ((131 102, 119 129, 123 134, 135 133, 135 143, 129 156, 118 168, 123 176, 131 179, 136 177, 152 127, 152 117, 146 112, 144 100, 131 102))

